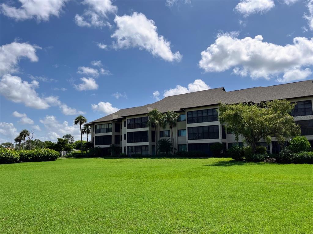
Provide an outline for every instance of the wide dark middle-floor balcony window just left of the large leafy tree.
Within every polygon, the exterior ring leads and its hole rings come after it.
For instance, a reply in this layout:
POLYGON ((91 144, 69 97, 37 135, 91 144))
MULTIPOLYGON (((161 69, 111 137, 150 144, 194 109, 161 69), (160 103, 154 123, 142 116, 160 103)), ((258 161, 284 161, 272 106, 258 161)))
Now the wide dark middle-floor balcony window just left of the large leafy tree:
POLYGON ((218 139, 218 125, 188 127, 188 140, 218 139))

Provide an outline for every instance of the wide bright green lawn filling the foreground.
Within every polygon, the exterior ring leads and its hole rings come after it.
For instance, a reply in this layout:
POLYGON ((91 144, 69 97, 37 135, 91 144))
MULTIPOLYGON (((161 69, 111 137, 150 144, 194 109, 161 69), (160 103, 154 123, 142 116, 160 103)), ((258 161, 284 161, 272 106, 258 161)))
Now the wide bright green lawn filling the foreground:
POLYGON ((67 158, 0 176, 0 233, 313 233, 313 165, 67 158))

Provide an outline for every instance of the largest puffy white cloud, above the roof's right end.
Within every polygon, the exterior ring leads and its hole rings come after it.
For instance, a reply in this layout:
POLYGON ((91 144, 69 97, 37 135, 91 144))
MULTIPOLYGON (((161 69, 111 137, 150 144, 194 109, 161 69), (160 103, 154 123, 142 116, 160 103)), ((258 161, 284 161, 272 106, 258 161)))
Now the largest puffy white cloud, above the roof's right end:
POLYGON ((313 64, 313 38, 295 37, 285 46, 263 42, 263 37, 238 39, 229 34, 218 35, 215 43, 201 52, 199 67, 205 72, 233 73, 254 79, 269 79, 290 69, 313 64))

